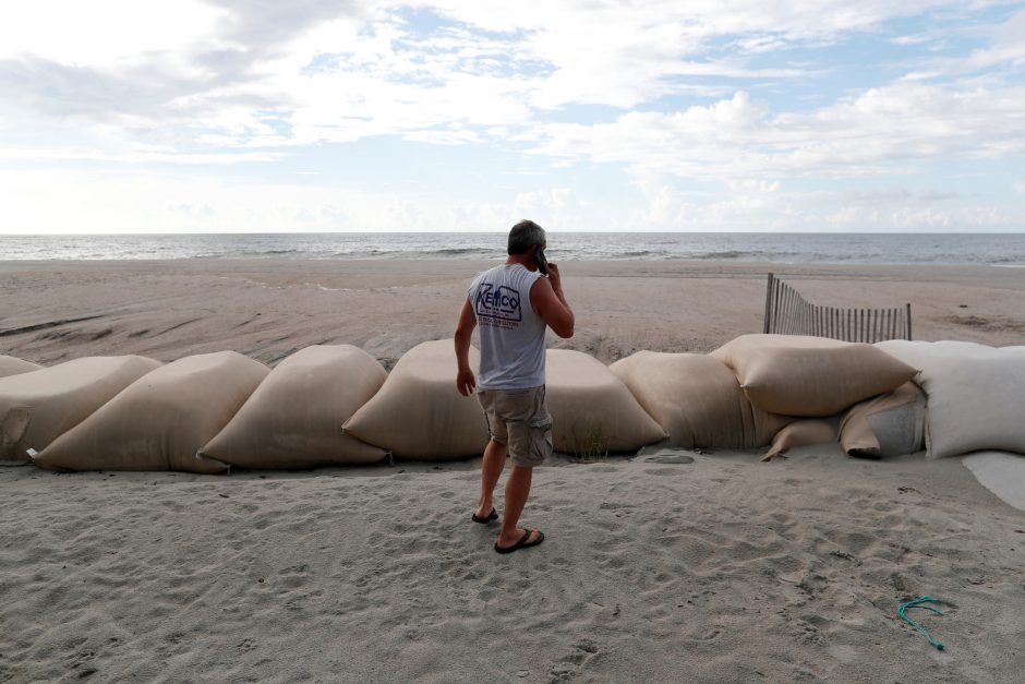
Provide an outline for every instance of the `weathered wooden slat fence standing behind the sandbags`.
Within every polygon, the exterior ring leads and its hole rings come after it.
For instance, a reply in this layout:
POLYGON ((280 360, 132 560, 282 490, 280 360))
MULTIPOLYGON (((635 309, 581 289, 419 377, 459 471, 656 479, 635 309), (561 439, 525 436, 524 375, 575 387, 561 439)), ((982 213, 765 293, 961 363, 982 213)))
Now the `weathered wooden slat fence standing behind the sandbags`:
POLYGON ((811 335, 856 343, 912 338, 911 303, 893 309, 841 309, 812 304, 769 274, 765 333, 811 335))

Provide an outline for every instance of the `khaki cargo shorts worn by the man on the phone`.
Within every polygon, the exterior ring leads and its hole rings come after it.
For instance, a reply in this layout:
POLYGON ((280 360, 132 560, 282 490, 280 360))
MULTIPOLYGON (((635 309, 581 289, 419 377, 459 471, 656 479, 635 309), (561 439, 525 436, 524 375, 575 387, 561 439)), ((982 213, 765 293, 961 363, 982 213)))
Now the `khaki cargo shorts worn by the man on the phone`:
POLYGON ((544 385, 481 389, 477 398, 491 439, 508 445, 514 466, 533 468, 552 455, 552 417, 544 405, 544 385))

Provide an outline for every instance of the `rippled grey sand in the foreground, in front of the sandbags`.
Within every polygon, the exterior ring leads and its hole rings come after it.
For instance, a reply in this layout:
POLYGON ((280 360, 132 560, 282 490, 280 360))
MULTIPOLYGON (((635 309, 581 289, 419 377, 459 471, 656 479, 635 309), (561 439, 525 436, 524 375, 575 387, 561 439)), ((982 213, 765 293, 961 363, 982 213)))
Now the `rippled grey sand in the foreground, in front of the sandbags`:
MULTIPOLYGON (((539 469, 535 549, 469 464, 0 471, 0 680, 1012 682, 1025 515, 956 459, 539 469), (940 652, 900 622, 900 601, 940 652)), ((688 460, 682 458, 680 460, 688 460)), ((499 502, 501 503, 501 502, 499 502)))

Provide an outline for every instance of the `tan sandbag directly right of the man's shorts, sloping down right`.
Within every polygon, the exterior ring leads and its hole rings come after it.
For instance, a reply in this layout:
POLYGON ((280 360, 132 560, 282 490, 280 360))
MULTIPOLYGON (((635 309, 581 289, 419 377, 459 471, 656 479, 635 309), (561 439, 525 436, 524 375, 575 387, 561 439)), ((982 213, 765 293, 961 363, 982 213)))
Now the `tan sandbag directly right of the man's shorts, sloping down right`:
POLYGON ((615 373, 582 351, 550 349, 545 403, 557 452, 598 455, 634 452, 665 439, 615 373))

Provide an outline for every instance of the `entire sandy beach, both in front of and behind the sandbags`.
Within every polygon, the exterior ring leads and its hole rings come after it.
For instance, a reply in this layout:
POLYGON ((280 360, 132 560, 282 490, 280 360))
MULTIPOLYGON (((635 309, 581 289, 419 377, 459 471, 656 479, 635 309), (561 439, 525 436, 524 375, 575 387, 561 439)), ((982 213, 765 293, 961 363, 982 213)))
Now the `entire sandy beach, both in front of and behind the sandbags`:
MULTIPOLYGON (((485 262, 2 262, 0 353, 274 365, 451 336, 485 262)), ((817 303, 911 302, 915 337, 1025 338, 1021 269, 560 265, 611 362, 761 332, 765 274, 817 303)), ((0 681, 1013 682, 1025 513, 960 458, 649 447, 538 470, 538 549, 474 525, 479 460, 231 476, 0 466, 0 681), (912 611, 940 651, 897 615, 912 611)), ((501 502, 499 502, 501 503, 501 502)))

